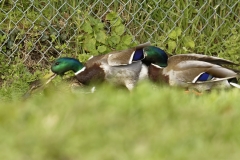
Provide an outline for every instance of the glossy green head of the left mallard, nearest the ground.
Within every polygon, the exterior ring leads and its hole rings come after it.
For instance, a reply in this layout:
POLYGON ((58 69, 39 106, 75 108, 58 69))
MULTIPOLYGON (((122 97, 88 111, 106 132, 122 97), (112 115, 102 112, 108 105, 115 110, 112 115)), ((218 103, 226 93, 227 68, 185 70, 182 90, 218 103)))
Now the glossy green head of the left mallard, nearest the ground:
POLYGON ((58 75, 63 75, 67 71, 76 73, 83 67, 84 65, 75 58, 62 57, 55 60, 51 66, 51 70, 58 75))

